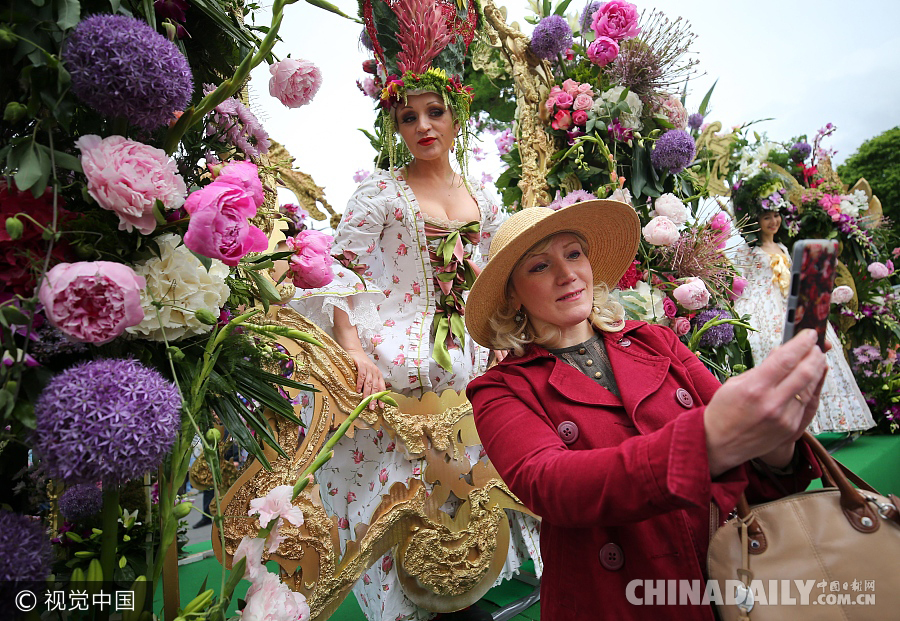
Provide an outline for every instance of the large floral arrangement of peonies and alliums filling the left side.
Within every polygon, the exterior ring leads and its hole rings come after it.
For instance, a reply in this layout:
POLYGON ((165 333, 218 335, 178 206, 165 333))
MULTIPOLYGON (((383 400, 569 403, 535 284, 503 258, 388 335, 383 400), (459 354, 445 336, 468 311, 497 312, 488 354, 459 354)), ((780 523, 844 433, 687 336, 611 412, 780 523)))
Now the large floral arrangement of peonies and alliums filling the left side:
MULTIPOLYGON (((219 427, 268 466, 265 445, 285 453, 264 410, 300 424, 284 388, 306 386, 275 339, 314 339, 253 318, 281 300, 276 261, 325 284, 332 240, 275 207, 268 134, 239 97, 263 61, 288 107, 319 88, 312 63, 271 54, 289 3, 262 38, 252 7, 218 1, 29 5, 0 24, 0 456, 35 490, 4 498, 4 580, 153 587, 201 510, 177 494, 195 438, 221 525, 219 427), (294 231, 269 252, 275 220, 294 231)), ((167 595, 164 618, 223 618, 242 575, 184 608, 167 595)))

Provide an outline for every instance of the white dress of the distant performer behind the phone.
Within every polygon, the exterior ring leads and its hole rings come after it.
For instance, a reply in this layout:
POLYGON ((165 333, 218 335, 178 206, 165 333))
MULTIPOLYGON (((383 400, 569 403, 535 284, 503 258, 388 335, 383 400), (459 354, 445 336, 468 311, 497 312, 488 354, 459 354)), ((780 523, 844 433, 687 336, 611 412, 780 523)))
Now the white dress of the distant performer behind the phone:
MULTIPOLYGON (((783 263, 789 270, 791 260, 787 248, 782 244, 778 246, 783 253, 781 256, 770 256, 759 246, 751 248, 741 244, 735 261, 748 284, 744 294, 735 301, 734 308, 740 315, 750 315, 750 325, 756 328, 756 332, 749 333, 750 349, 756 364, 780 345, 784 336, 787 290, 785 288, 782 292, 775 272, 779 263, 783 263)), ((810 433, 856 431, 874 427, 872 413, 856 385, 850 365, 844 359, 841 342, 831 324, 825 334, 831 342, 831 351, 825 354, 828 375, 822 386, 816 417, 809 424, 810 433)))

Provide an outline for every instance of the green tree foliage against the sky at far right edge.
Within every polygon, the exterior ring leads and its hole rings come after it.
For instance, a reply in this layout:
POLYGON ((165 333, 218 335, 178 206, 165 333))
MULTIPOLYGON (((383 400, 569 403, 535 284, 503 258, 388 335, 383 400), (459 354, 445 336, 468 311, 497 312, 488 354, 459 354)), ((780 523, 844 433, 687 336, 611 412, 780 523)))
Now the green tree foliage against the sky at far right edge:
POLYGON ((900 218, 900 126, 862 143, 838 166, 838 174, 850 186, 865 177, 885 215, 900 218))

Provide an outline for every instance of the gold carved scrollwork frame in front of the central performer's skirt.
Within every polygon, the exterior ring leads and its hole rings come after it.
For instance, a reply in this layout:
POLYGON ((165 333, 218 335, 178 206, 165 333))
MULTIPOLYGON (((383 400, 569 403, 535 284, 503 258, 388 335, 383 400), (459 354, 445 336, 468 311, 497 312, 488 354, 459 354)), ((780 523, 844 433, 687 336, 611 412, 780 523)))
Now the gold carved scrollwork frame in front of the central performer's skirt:
MULTIPOLYGON (((286 307, 272 307, 260 320, 302 330, 324 347, 281 338, 294 359, 294 379, 315 386, 313 413, 305 436, 297 425, 271 415, 280 446, 290 456, 281 458, 269 448, 271 471, 255 461, 240 474, 225 494, 222 507, 225 549, 218 531, 213 549, 226 567, 244 536, 255 536, 259 523, 247 516, 252 499, 278 485, 293 485, 312 462, 328 436, 359 404, 355 392, 355 366, 337 343, 318 326, 286 307)), ((297 391, 288 391, 291 397, 297 391)), ((490 462, 469 465, 466 446, 480 444, 471 405, 463 393, 426 393, 422 399, 391 395, 398 407, 365 410, 348 430, 383 429, 402 441, 408 453, 425 457, 424 479, 433 488, 426 494, 422 481, 397 482, 382 497, 368 524, 359 524, 354 539, 340 553, 337 517, 328 515, 319 486, 312 484, 295 504, 304 524, 285 523, 288 537, 269 556, 280 568, 282 580, 303 593, 311 618, 324 621, 340 606, 353 584, 388 550, 397 547, 395 567, 409 598, 435 612, 464 608, 493 585, 506 559, 509 521, 504 509, 532 515, 500 480, 490 462), (453 494, 462 500, 455 516, 440 510, 453 494)), ((299 408, 298 408, 299 409, 299 408)), ((298 412, 299 414, 299 412, 298 412)))

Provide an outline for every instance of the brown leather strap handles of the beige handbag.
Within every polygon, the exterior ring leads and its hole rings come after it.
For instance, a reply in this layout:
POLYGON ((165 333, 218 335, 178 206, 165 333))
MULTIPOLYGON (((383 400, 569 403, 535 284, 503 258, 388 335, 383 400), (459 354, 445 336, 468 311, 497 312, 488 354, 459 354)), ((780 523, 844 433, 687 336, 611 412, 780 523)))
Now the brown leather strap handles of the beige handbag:
MULTIPOLYGON (((813 456, 819 463, 823 484, 828 487, 836 487, 840 491, 841 510, 850 525, 863 533, 871 533, 878 530, 880 526, 878 513, 872 509, 868 499, 859 490, 853 487, 850 480, 852 479, 854 483, 859 485, 860 488, 865 491, 874 492, 876 494, 878 492, 871 485, 850 471, 849 468, 840 464, 829 455, 828 451, 825 450, 825 447, 822 446, 822 444, 808 431, 803 432, 802 440, 809 446, 813 456)), ((887 512, 890 513, 889 510, 887 512)), ((896 521, 896 514, 897 510, 895 507, 893 515, 884 515, 884 517, 896 521)), ((741 494, 741 497, 738 500, 737 515, 742 521, 747 523, 748 535, 751 540, 750 553, 761 554, 764 552, 767 547, 765 533, 763 532, 759 521, 752 515, 745 494, 741 494)))

